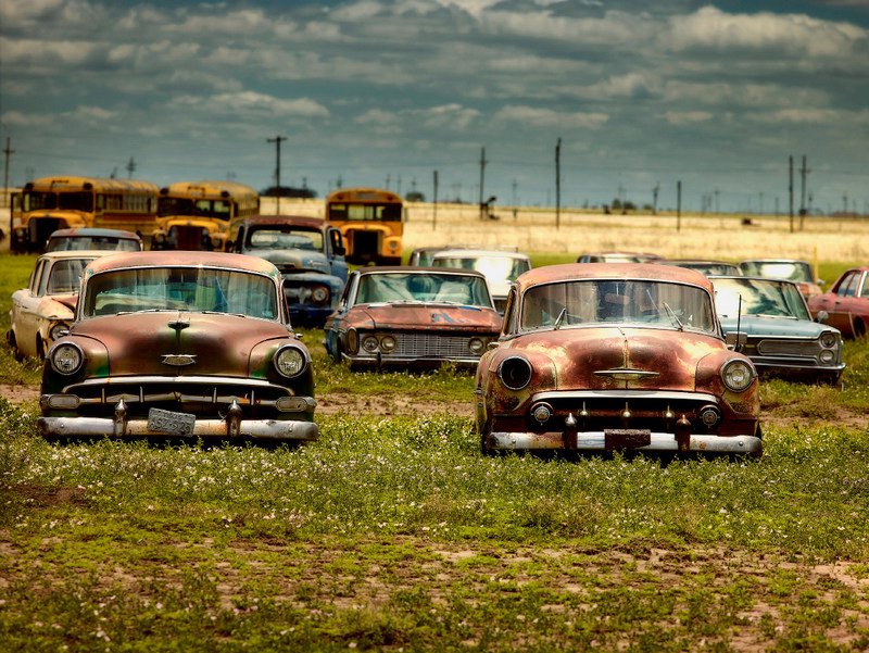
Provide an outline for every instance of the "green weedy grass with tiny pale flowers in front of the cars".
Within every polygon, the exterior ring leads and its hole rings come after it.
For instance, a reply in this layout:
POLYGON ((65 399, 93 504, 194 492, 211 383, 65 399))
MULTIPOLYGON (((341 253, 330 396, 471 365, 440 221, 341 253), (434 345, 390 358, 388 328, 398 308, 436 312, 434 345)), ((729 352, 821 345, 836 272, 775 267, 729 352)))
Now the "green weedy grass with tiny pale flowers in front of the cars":
POLYGON ((448 414, 322 418, 293 451, 33 419, 0 402, 4 650, 866 645, 865 430, 662 466, 482 459, 448 414))

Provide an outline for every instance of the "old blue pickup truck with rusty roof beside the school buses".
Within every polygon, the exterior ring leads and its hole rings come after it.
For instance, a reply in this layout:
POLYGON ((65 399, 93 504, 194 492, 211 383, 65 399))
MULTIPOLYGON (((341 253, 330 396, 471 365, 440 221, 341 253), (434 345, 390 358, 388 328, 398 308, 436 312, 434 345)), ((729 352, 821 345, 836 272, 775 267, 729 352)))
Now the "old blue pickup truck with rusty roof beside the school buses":
POLYGON ((341 231, 316 217, 254 215, 235 230, 231 251, 265 259, 280 271, 293 326, 322 327, 344 290, 341 231))

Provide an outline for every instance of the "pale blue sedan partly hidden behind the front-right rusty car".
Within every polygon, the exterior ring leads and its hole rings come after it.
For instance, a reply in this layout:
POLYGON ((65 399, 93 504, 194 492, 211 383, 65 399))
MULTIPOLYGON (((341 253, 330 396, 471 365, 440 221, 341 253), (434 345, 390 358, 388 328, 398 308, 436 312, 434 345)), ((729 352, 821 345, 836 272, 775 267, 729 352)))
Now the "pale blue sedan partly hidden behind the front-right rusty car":
POLYGON ((842 334, 814 322, 794 281, 758 277, 709 277, 728 342, 747 355, 757 371, 803 381, 839 384, 842 334))

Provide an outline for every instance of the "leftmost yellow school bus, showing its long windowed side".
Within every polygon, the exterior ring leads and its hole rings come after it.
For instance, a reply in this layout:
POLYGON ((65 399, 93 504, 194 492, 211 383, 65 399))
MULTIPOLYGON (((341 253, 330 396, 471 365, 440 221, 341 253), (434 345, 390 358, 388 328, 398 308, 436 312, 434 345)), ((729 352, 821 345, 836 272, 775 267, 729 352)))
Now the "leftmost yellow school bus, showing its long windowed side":
POLYGON ((12 251, 42 251, 52 231, 76 227, 126 229, 147 239, 154 230, 156 192, 155 185, 136 179, 56 176, 28 181, 12 226, 12 251))

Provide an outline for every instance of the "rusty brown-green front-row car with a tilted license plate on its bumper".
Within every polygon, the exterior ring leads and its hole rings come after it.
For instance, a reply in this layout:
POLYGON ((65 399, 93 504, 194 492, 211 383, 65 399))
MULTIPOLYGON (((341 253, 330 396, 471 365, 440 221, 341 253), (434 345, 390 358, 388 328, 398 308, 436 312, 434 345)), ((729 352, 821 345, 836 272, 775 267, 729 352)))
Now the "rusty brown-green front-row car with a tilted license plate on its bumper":
POLYGON ((47 438, 315 440, 311 354, 277 268, 217 252, 111 254, 84 271, 46 355, 47 438))

